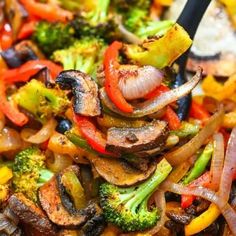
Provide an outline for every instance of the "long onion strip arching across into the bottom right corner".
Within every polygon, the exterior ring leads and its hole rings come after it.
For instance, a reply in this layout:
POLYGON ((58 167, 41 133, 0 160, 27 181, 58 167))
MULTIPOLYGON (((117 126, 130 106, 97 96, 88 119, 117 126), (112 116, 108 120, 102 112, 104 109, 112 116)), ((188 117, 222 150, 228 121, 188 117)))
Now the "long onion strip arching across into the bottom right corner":
POLYGON ((165 181, 164 183, 162 183, 160 188, 165 191, 170 191, 181 195, 185 194, 199 196, 212 203, 215 203, 220 209, 222 215, 225 217, 231 232, 233 233, 233 235, 236 235, 236 212, 227 202, 223 202, 214 191, 203 187, 189 188, 181 184, 172 183, 170 181, 165 181))

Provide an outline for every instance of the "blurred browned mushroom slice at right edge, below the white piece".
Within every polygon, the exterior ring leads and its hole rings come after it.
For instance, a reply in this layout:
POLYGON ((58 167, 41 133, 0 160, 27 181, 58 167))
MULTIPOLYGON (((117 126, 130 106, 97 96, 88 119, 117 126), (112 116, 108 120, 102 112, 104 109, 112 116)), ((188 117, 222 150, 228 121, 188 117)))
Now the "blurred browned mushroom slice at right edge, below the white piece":
POLYGON ((236 73, 236 55, 220 53, 214 57, 199 57, 191 54, 187 63, 187 69, 194 72, 199 66, 203 69, 205 75, 228 77, 236 73))

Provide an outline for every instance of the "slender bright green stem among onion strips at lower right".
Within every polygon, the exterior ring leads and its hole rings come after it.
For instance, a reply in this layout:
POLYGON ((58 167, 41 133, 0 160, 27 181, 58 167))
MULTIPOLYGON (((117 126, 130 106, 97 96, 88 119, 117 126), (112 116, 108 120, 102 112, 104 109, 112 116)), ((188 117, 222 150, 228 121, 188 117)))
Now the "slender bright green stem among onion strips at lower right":
POLYGON ((202 154, 198 157, 193 168, 190 170, 189 174, 184 179, 183 184, 189 184, 191 181, 202 175, 211 159, 213 150, 213 144, 208 143, 205 149, 203 150, 202 154))

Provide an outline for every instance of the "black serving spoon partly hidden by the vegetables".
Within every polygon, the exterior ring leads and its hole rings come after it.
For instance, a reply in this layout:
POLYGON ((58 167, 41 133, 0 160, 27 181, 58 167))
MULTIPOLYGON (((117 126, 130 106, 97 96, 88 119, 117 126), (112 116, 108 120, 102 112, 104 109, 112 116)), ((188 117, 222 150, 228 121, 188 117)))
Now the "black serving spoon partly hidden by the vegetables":
MULTIPOLYGON (((177 23, 181 25, 189 34, 190 38, 193 39, 197 31, 198 25, 210 4, 211 0, 188 0, 181 12, 177 23)), ((181 57, 176 60, 176 64, 179 67, 178 74, 176 75, 173 87, 179 87, 187 81, 186 78, 186 64, 190 50, 186 51, 181 57)), ((191 94, 182 97, 177 101, 178 109, 177 114, 180 120, 187 118, 190 104, 191 94)))

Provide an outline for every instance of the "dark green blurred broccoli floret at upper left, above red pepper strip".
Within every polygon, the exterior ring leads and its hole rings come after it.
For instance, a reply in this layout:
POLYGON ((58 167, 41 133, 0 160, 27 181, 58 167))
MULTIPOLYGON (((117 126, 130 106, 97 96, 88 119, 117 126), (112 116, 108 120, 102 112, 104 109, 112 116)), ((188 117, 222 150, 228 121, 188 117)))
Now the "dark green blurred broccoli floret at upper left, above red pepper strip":
POLYGON ((74 29, 69 24, 41 21, 36 26, 33 40, 47 56, 50 56, 53 51, 73 43, 74 29))

